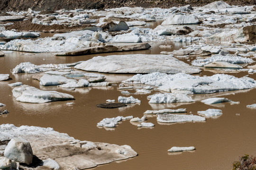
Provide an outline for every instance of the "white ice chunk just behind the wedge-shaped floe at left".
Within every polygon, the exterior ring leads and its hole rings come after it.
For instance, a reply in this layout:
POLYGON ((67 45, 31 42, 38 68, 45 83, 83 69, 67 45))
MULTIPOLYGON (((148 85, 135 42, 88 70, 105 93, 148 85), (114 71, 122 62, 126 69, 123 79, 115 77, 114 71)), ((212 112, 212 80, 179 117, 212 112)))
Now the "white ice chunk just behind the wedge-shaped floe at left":
MULTIPOLYGON (((40 85, 62 85, 66 83, 73 82, 74 84, 77 82, 74 79, 68 79, 64 76, 55 76, 55 75, 48 75, 45 74, 40 79, 40 85)), ((88 82, 89 83, 89 82, 88 82)))

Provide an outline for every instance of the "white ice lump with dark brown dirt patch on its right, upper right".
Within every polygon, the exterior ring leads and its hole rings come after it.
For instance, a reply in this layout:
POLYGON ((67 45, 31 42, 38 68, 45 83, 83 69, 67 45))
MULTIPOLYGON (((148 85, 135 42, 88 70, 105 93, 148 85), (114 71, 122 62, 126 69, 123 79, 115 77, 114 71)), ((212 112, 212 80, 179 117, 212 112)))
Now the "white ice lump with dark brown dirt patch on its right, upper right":
POLYGON ((183 35, 189 34, 193 30, 188 26, 157 26, 153 30, 158 35, 183 35))

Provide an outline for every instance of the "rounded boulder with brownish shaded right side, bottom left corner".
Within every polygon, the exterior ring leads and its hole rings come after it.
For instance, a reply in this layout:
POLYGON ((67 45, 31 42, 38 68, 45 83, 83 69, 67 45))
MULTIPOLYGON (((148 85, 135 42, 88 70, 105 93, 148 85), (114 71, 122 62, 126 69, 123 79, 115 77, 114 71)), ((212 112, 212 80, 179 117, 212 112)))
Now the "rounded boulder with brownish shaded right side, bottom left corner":
POLYGON ((33 160, 33 151, 27 140, 22 137, 13 138, 6 146, 4 156, 19 163, 29 165, 33 160))

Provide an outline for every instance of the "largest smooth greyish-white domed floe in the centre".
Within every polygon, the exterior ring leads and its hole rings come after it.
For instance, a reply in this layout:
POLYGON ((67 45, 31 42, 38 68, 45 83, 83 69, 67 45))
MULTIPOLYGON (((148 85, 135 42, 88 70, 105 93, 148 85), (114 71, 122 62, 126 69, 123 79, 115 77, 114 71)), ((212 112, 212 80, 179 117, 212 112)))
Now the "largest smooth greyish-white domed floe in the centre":
POLYGON ((105 73, 200 73, 201 70, 168 55, 127 54, 98 56, 74 68, 105 73))

